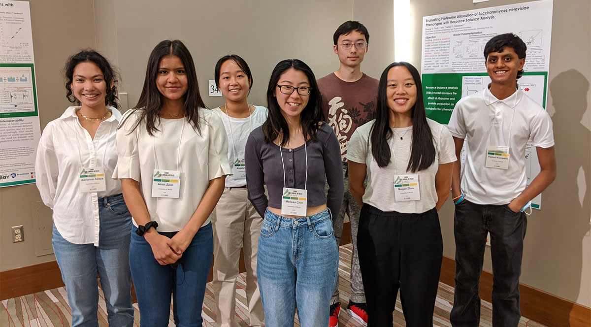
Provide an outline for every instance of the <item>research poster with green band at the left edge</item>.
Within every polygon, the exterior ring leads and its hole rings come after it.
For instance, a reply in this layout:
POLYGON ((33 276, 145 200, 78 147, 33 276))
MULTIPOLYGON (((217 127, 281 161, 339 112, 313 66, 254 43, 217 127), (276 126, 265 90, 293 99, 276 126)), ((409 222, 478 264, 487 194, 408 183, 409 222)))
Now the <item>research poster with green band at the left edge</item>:
POLYGON ((29 3, 0 0, 0 187, 35 183, 41 137, 29 3))

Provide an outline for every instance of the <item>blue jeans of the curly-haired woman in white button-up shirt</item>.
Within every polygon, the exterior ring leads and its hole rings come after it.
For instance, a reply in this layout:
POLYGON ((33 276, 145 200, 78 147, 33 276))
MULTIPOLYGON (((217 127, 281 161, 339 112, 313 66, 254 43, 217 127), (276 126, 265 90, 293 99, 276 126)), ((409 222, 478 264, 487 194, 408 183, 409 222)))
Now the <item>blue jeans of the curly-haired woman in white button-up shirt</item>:
POLYGON ((99 199, 99 246, 73 244, 53 226, 53 251, 72 307, 72 326, 98 326, 99 291, 105 294, 109 326, 132 326, 129 229, 131 215, 123 196, 99 199))

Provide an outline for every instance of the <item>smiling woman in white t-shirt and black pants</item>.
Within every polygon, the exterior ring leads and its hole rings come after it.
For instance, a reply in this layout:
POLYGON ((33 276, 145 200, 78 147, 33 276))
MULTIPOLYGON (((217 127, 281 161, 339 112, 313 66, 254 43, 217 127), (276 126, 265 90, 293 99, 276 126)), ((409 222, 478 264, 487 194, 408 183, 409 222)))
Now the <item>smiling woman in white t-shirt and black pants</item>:
POLYGON ((426 118, 422 89, 415 67, 390 64, 379 81, 376 119, 349 141, 368 326, 392 325, 398 289, 407 326, 433 325, 443 257, 437 211, 449 196, 456 156, 447 128, 426 118))

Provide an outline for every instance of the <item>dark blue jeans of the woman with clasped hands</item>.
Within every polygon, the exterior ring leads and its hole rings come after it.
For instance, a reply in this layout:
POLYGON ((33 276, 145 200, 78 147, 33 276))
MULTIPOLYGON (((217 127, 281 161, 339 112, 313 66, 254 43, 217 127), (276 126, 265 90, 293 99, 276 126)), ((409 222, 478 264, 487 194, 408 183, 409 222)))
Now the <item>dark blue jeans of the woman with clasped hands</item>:
MULTIPOLYGON (((199 228, 183 252, 182 263, 176 268, 161 266, 154 258, 150 244, 135 231, 134 226, 129 245, 129 266, 138 298, 140 325, 168 326, 172 294, 175 325, 202 326, 203 297, 213 258, 212 224, 199 228)), ((160 234, 171 238, 177 232, 160 234)))

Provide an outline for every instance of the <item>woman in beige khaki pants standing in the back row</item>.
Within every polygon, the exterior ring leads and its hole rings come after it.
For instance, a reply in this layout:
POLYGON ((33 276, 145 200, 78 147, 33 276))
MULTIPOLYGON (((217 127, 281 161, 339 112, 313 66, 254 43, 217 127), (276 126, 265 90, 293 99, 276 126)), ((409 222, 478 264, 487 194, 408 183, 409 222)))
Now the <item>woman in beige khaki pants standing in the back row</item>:
POLYGON ((222 116, 228 134, 228 161, 232 176, 213 216, 213 293, 219 326, 236 327, 236 279, 240 249, 244 248, 246 266, 246 306, 249 326, 264 326, 265 314, 256 280, 256 253, 261 232, 261 216, 248 200, 244 150, 252 130, 267 120, 267 108, 246 101, 252 87, 248 64, 236 54, 217 60, 214 76, 226 103, 214 109, 222 116))

